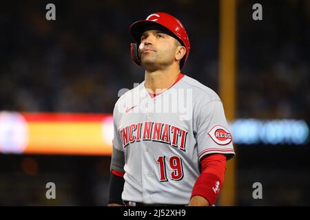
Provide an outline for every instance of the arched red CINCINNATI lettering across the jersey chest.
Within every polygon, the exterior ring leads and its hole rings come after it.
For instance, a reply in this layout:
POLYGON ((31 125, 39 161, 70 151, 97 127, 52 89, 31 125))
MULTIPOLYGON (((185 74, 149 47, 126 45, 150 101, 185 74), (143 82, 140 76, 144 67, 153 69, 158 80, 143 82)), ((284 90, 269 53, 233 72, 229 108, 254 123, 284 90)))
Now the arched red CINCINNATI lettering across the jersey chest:
POLYGON ((161 122, 138 122, 118 131, 123 148, 133 142, 153 141, 185 151, 187 131, 161 122))

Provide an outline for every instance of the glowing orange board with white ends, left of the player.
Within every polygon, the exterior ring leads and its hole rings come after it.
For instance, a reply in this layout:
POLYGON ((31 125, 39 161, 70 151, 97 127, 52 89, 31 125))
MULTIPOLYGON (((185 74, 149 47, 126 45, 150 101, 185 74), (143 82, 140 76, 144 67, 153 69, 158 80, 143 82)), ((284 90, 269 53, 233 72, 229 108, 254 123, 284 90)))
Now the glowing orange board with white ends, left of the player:
POLYGON ((0 124, 2 124, 0 127, 2 153, 55 155, 112 153, 113 120, 110 114, 2 111, 0 124))

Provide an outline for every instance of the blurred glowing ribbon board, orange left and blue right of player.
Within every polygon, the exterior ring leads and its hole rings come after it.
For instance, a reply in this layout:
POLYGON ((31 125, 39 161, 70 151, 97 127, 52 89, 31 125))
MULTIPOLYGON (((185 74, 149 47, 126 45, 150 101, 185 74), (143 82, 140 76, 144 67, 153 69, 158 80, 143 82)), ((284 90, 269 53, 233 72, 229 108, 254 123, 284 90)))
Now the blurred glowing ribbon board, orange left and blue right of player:
MULTIPOLYGON (((229 124, 240 145, 294 145, 309 141, 304 120, 239 118, 229 124)), ((111 155, 112 114, 0 111, 0 153, 111 155)))

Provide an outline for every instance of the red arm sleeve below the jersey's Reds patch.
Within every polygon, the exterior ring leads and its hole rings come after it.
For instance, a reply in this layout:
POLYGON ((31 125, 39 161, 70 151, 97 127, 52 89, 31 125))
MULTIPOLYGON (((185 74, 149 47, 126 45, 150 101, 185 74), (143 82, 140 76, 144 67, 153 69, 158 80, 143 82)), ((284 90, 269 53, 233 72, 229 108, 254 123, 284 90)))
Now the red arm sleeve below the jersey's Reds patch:
POLYGON ((196 180, 192 197, 200 195, 212 206, 220 195, 220 188, 225 179, 226 156, 220 153, 205 155, 200 164, 202 172, 196 180))

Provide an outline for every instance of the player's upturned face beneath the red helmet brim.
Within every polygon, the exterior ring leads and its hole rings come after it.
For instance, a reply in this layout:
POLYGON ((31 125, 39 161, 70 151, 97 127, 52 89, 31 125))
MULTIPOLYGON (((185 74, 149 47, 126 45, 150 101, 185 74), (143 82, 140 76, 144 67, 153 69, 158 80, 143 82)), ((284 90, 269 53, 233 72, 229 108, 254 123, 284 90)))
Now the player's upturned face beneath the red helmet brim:
POLYGON ((141 64, 147 66, 168 66, 176 61, 178 43, 176 39, 159 30, 147 30, 141 35, 139 54, 141 64))

